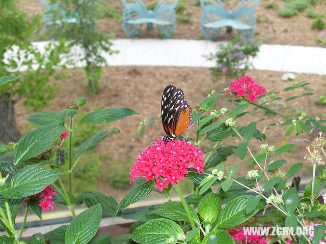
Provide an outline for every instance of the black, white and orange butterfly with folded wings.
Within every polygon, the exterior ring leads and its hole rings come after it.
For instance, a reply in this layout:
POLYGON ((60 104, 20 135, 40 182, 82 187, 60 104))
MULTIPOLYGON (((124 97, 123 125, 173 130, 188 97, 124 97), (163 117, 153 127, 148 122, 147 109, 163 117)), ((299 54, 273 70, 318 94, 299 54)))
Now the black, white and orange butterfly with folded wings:
POLYGON ((161 103, 162 124, 166 132, 164 141, 168 142, 191 127, 192 107, 184 100, 181 89, 168 85, 162 95, 161 103))

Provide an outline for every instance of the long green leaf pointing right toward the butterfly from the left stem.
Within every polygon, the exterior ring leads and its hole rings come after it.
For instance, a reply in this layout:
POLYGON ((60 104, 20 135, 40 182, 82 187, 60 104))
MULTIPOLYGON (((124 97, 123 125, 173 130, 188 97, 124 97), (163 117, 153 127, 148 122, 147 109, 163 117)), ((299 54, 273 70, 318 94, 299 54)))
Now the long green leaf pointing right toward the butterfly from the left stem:
POLYGON ((91 112, 85 115, 78 123, 82 125, 84 123, 91 124, 107 124, 114 121, 120 120, 122 118, 128 117, 130 115, 139 114, 129 108, 108 108, 98 111, 91 112))

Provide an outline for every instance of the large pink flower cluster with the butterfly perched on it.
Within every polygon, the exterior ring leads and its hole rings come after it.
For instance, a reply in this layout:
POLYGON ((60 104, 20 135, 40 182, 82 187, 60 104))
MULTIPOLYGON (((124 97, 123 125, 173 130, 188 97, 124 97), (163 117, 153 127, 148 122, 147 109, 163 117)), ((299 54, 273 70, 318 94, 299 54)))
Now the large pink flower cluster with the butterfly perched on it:
POLYGON ((157 184, 154 188, 163 191, 170 183, 174 185, 180 182, 180 178, 185 179, 189 169, 204 172, 203 153, 199 147, 190 141, 175 139, 164 142, 162 139, 139 154, 130 168, 130 184, 137 177, 146 177, 146 181, 155 178, 157 184))

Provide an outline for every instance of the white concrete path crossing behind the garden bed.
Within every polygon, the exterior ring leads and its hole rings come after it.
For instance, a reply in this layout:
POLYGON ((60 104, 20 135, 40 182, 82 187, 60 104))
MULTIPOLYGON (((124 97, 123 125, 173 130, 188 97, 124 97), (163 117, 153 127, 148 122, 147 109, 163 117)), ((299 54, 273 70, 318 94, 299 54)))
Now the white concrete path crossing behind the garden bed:
MULTIPOLYGON (((216 52, 220 44, 174 39, 115 39, 112 42, 113 48, 120 52, 112 56, 103 53, 110 66, 212 67, 214 63, 207 61, 205 55, 216 52)), ((48 42, 34 44, 44 50, 48 42)), ((253 65, 257 70, 325 75, 326 48, 263 44, 253 65)))

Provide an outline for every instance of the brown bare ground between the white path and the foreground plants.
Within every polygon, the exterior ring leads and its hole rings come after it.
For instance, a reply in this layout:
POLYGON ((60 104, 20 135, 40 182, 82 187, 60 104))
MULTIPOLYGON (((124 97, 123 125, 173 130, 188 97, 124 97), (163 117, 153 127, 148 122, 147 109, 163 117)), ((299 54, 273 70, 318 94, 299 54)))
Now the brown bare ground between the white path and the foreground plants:
MULTIPOLYGON (((267 90, 275 88, 281 90, 289 85, 289 82, 281 80, 283 74, 281 72, 254 70, 248 71, 247 74, 256 78, 259 84, 264 85, 267 90)), ((323 118, 325 107, 316 105, 314 100, 317 96, 326 94, 326 87, 324 86, 326 77, 308 74, 295 75, 297 81, 308 80, 311 82, 311 87, 314 89, 315 96, 304 98, 305 105, 314 105, 314 107, 309 108, 308 114, 310 116, 318 115, 320 118, 323 118)), ((86 88, 83 71, 80 69, 69 70, 68 79, 59 82, 59 84, 61 85, 60 92, 57 94, 56 99, 51 102, 52 105, 45 107, 43 109, 44 111, 51 110, 58 112, 66 106, 67 101, 71 98, 86 97, 87 104, 82 108, 83 111, 90 112, 91 107, 97 105, 102 108, 128 107, 140 113, 140 115, 133 115, 117 121, 113 125, 104 126, 103 130, 111 130, 113 127, 117 127, 121 132, 109 136, 97 147, 98 154, 105 153, 112 156, 110 160, 102 162, 103 170, 101 172, 103 173, 98 179, 98 190, 114 195, 118 199, 126 191, 116 190, 108 185, 106 181, 107 174, 105 173, 107 170, 105 171, 105 168, 110 165, 117 165, 119 160, 122 162, 126 162, 127 159, 136 160, 139 152, 152 144, 152 142, 132 142, 132 136, 137 131, 139 123, 143 119, 155 117, 157 121, 155 125, 149 126, 146 129, 145 136, 139 139, 154 140, 161 138, 165 134, 158 118, 158 114, 160 113, 160 99, 164 88, 169 84, 174 84, 182 88, 185 99, 194 107, 207 96, 211 89, 223 91, 223 88, 227 86, 224 81, 213 83, 210 72, 206 68, 174 67, 106 67, 103 71, 100 93, 98 95, 91 94, 86 88)), ((287 93, 286 97, 295 95, 287 93)), ((283 94, 282 97, 286 98, 283 94)), ((295 106, 294 101, 292 105, 295 106)), ((224 96, 220 96, 215 108, 232 108, 233 106, 233 104, 228 103, 224 96)), ((33 112, 26 111, 22 107, 21 102, 16 104, 15 109, 17 125, 21 131, 24 131, 27 125, 26 118, 33 112)), ((248 125, 251 119, 251 117, 244 116, 241 120, 238 120, 238 123, 248 125)), ((255 117, 255 119, 258 121, 258 118, 255 117)), ((263 122, 260 122, 258 125, 260 130, 265 126, 263 122)), ((195 127, 189 128, 183 133, 183 136, 195 137, 195 127)), ((268 144, 277 147, 282 145, 281 140, 271 138, 268 132, 266 136, 266 142, 268 144)), ((311 135, 310 138, 313 138, 313 136, 311 135)), ((237 145, 238 143, 238 139, 231 139, 227 142, 227 144, 233 145, 237 145)), ((259 150, 260 144, 261 142, 258 140, 251 140, 250 147, 254 153, 259 150)), ((297 162, 305 162, 303 157, 306 155, 305 147, 308 144, 306 142, 300 142, 297 145, 295 154, 282 155, 288 161, 285 168, 289 168, 297 162)), ((246 173, 250 168, 249 165, 240 162, 236 156, 231 156, 226 162, 226 165, 234 163, 239 164, 239 175, 246 173)), ((126 174, 125 177, 128 177, 128 175, 126 174)))

